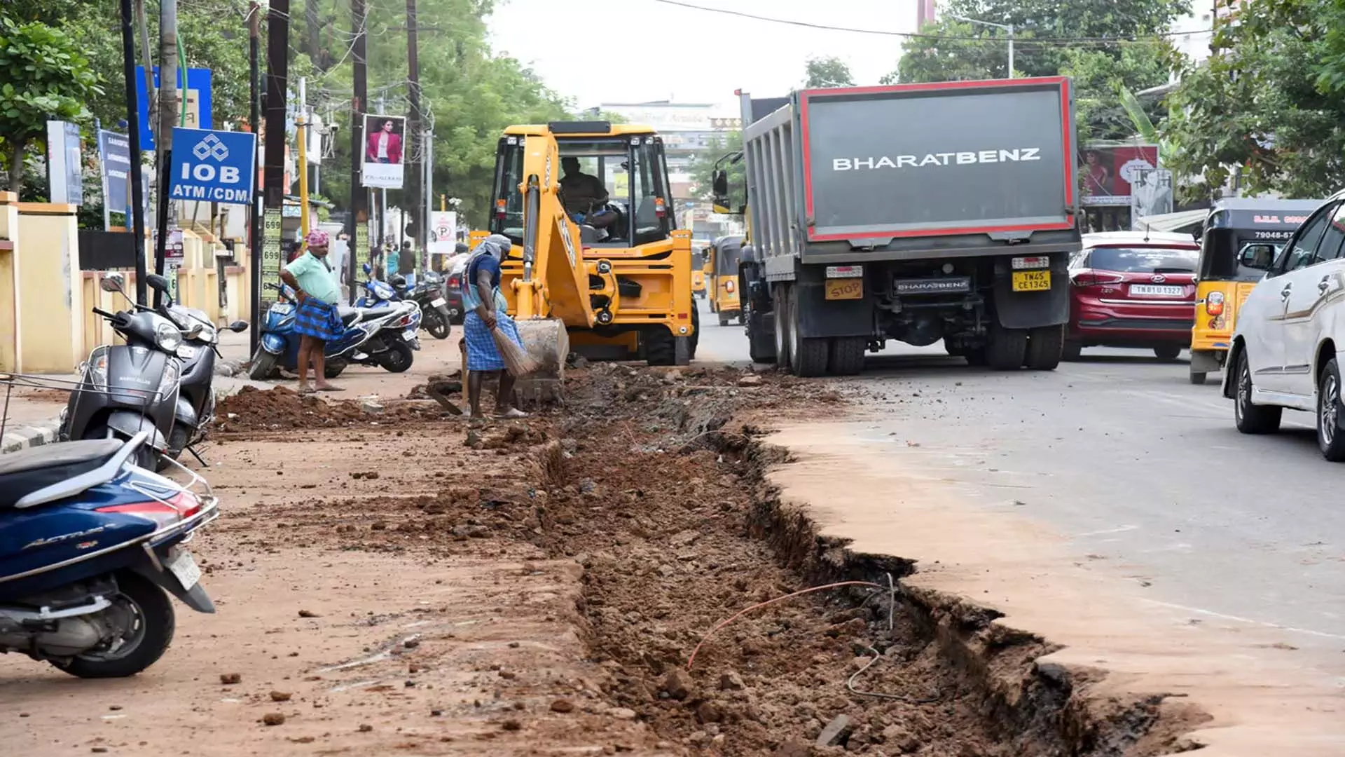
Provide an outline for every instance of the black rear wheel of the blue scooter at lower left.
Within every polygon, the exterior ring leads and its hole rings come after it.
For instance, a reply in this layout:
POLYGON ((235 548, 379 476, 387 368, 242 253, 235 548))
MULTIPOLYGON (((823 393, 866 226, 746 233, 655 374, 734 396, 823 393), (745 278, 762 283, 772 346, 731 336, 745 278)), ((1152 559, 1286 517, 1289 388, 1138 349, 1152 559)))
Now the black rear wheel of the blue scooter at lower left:
POLYGON ((79 678, 125 678, 155 664, 172 643, 176 617, 163 589, 129 572, 117 574, 117 595, 101 618, 116 637, 98 649, 51 664, 79 678))

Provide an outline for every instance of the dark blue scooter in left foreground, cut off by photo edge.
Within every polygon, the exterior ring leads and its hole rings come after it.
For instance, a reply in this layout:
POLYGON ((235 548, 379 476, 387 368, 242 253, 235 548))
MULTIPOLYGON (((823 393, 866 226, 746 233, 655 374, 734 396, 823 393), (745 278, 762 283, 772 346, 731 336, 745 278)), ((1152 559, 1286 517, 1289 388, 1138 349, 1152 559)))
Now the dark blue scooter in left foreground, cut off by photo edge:
POLYGON ((79 678, 129 676, 172 641, 165 593, 215 612, 182 546, 218 501, 186 467, 183 486, 132 465, 152 432, 0 455, 0 652, 79 678))

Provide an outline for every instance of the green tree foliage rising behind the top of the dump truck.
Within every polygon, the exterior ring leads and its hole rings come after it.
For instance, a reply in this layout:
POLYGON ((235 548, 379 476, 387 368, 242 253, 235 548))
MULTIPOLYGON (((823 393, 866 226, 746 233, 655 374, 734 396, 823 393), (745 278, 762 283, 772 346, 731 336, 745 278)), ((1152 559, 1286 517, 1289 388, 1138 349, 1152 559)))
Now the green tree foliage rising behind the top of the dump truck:
MULTIPOLYGON (((1081 139, 1124 139, 1135 125, 1118 92, 1167 82, 1178 54, 1154 35, 1189 9, 1189 0, 952 0, 943 18, 911 39, 884 84, 994 79, 1009 75, 1006 30, 1014 27, 1014 74, 1071 75, 1081 139), (1073 40, 1073 42, 1071 42, 1073 40)), ((1149 100, 1145 110, 1163 110, 1149 100)))

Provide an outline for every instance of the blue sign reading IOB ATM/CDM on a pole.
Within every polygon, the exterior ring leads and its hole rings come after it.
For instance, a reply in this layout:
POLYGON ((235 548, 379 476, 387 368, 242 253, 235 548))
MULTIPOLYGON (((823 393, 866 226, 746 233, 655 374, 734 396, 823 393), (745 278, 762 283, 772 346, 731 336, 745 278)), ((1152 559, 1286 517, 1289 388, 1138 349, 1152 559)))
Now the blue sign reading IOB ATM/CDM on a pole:
POLYGON ((172 131, 168 197, 247 205, 257 170, 257 139, 247 132, 172 131))

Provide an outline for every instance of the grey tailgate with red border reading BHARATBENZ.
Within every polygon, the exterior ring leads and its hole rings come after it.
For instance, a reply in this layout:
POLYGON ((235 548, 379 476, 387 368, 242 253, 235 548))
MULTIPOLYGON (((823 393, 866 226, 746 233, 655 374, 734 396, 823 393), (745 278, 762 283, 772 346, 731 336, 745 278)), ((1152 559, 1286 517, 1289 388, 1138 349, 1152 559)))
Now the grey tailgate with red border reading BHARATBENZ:
POLYGON ((799 93, 808 241, 1075 226, 1065 77, 799 93))

